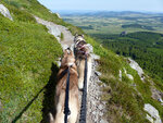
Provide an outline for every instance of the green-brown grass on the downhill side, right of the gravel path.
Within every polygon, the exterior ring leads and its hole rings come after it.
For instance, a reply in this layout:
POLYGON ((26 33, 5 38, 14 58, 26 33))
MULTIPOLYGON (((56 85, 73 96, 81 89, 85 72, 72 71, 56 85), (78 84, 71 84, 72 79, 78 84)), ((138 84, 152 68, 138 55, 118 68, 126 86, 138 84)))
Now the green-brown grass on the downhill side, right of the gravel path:
POLYGON ((163 115, 161 103, 151 98, 151 78, 146 79, 143 83, 123 57, 117 57, 115 53, 100 47, 89 37, 86 37, 86 40, 93 46, 95 53, 101 57, 98 61, 99 71, 102 72, 101 81, 108 85, 106 88, 111 88, 111 93, 104 89, 104 96, 102 97, 108 102, 106 116, 110 122, 149 123, 143 111, 145 103, 151 103, 159 110, 160 116, 163 115), (127 78, 124 69, 126 69, 127 74, 134 76, 134 81, 127 78), (122 82, 118 79, 120 70, 123 72, 122 82), (133 84, 136 84, 136 87, 133 84))

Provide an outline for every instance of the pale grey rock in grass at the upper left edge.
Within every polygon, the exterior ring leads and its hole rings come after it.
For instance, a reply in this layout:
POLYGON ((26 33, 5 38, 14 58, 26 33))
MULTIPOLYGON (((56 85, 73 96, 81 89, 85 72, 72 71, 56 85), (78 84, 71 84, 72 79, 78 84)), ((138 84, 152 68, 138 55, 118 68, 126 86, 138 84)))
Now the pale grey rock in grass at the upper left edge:
POLYGON ((0 13, 3 16, 5 16, 5 17, 10 19, 11 21, 13 21, 12 16, 11 16, 11 14, 9 12, 9 10, 3 4, 0 4, 0 13))

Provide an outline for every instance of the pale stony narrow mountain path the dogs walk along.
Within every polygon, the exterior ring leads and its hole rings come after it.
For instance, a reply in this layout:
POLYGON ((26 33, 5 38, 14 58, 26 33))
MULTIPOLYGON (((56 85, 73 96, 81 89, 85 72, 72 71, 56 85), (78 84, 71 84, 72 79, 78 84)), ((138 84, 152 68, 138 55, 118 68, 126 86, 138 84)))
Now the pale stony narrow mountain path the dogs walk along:
MULTIPOLYGON (((41 20, 37 16, 35 16, 35 19, 37 23, 45 25, 49 29, 49 33, 52 34, 61 44, 63 50, 66 49, 67 47, 71 47, 73 49, 74 36, 66 27, 62 25, 57 25, 52 22, 41 20), (64 37, 62 40, 61 40, 61 33, 63 34, 64 37)), ((92 73, 87 94, 87 123, 108 123, 104 120, 105 102, 102 102, 100 99, 102 95, 101 87, 104 85, 102 85, 102 82, 100 82, 99 79, 100 73, 97 71, 98 67, 98 62, 96 61, 97 59, 100 58, 96 54, 92 54, 92 73)), ((82 101, 82 94, 83 93, 80 91, 79 93, 80 101, 82 101)))

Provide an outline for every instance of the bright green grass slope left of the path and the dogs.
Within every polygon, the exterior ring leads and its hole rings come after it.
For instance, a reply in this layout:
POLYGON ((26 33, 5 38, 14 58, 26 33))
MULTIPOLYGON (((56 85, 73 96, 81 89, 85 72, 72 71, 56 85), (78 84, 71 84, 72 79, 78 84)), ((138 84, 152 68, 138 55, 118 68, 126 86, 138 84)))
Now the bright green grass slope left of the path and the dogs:
MULTIPOLYGON (((11 7, 14 22, 0 14, 0 122, 9 123, 29 104, 48 84, 51 64, 61 54, 61 46, 25 10, 11 7)), ((55 63, 55 62, 54 62, 55 63)), ((42 120, 43 91, 23 112, 18 123, 42 120)))

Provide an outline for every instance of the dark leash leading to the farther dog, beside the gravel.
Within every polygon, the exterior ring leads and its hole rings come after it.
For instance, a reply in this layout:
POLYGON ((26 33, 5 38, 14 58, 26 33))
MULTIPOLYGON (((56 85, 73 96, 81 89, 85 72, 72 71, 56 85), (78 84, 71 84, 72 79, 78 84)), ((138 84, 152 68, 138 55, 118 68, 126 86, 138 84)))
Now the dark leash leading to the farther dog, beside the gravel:
POLYGON ((79 123, 86 123, 86 115, 87 115, 87 56, 85 59, 84 91, 82 97, 79 123))

